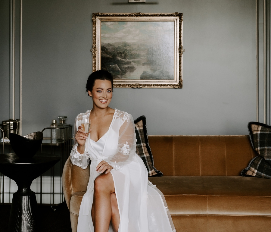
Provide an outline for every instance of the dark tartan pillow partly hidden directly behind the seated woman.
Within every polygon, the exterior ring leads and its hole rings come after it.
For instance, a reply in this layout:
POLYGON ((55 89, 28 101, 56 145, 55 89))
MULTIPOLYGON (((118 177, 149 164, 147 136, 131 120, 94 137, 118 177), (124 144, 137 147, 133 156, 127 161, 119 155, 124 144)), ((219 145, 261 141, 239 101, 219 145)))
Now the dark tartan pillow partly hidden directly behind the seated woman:
POLYGON ((146 117, 140 116, 135 122, 136 127, 136 154, 142 158, 147 170, 149 177, 160 177, 163 173, 154 168, 153 156, 151 148, 149 146, 148 133, 146 127, 146 117))

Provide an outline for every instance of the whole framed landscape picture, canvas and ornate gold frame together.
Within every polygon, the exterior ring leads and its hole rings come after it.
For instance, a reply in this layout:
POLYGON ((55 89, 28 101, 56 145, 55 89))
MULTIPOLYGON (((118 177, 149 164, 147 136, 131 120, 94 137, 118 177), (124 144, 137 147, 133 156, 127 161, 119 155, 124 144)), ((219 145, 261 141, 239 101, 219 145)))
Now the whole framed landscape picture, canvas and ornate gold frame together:
POLYGON ((93 13, 93 71, 115 88, 182 88, 182 13, 93 13))

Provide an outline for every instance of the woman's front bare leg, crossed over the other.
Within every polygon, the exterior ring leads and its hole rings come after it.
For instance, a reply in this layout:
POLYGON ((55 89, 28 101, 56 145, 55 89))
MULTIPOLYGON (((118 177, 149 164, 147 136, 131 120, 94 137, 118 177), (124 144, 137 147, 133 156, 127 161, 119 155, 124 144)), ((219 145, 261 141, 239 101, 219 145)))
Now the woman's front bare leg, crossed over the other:
MULTIPOLYGON (((111 193, 115 193, 112 174, 99 175, 94 181, 94 196, 91 209, 95 232, 108 232, 112 219, 111 193)), ((115 210, 113 211, 115 214, 115 210)), ((115 219, 112 221, 112 227, 116 227, 116 225, 113 225, 114 221, 115 219)))

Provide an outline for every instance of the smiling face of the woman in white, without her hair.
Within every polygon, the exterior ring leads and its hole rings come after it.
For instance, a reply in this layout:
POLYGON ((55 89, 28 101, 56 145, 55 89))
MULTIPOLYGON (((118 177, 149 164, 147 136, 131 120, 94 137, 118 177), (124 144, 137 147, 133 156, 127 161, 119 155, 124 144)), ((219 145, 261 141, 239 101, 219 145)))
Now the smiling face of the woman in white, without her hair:
POLYGON ((93 104, 99 108, 107 108, 112 99, 112 85, 109 80, 95 80, 92 91, 88 91, 93 104))

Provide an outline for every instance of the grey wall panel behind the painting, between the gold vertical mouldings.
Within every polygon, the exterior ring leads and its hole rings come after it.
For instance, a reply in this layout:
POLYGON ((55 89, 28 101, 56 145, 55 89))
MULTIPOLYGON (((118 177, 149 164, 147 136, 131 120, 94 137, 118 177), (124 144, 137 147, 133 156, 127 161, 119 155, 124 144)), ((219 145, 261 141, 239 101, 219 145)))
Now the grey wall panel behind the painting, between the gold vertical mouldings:
POLYGON ((255 0, 111 4, 121 1, 128 0, 23 1, 22 134, 42 130, 58 115, 73 124, 92 108, 85 93, 92 12, 184 17, 183 88, 114 89, 111 108, 134 118, 145 114, 149 134, 248 134, 247 123, 256 120, 255 0))

